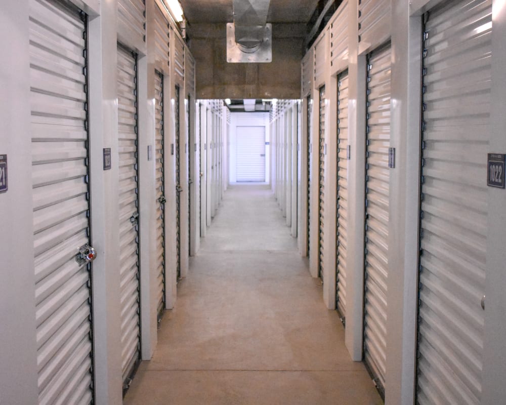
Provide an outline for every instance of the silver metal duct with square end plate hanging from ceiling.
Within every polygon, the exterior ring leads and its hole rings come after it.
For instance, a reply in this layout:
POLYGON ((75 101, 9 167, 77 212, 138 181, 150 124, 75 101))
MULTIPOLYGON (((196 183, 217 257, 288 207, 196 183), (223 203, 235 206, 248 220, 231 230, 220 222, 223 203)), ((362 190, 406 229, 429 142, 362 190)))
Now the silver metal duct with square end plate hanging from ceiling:
POLYGON ((227 24, 228 62, 271 62, 270 0, 233 0, 234 22, 227 24))

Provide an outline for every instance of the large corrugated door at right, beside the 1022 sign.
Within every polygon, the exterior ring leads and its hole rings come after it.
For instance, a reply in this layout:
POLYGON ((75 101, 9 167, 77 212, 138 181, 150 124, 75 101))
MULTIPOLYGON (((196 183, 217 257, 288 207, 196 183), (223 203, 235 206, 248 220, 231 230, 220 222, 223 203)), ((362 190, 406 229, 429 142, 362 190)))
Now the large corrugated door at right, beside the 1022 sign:
POLYGON ((487 235, 492 2, 425 24, 417 403, 478 404, 487 235))

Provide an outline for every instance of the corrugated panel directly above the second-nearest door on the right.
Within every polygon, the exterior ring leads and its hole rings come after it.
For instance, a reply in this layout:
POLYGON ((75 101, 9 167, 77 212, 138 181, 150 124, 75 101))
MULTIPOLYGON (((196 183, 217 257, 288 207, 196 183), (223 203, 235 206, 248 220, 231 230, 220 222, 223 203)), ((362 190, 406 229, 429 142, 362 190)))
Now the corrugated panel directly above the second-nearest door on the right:
POLYGON ((359 53, 383 44, 390 37, 390 0, 358 2, 359 53))

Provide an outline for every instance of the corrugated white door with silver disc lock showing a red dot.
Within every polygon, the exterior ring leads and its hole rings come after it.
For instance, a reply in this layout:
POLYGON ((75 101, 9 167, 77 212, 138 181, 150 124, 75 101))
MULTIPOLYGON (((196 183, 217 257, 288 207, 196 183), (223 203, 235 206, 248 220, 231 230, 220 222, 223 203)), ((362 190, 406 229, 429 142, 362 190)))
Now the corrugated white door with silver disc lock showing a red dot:
POLYGON ((91 403, 91 265, 76 261, 91 238, 86 16, 29 7, 38 401, 91 403))

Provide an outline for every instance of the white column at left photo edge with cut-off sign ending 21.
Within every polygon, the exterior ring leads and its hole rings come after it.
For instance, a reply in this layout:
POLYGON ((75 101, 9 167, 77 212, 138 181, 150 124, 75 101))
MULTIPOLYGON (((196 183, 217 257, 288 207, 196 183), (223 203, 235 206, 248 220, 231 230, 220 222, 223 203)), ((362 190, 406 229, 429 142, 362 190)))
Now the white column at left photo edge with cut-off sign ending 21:
POLYGON ((0 402, 37 403, 28 1, 0 5, 0 402))

